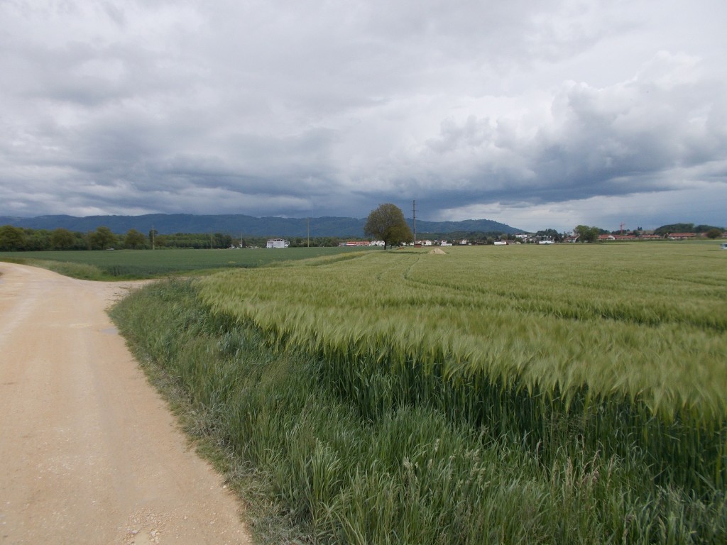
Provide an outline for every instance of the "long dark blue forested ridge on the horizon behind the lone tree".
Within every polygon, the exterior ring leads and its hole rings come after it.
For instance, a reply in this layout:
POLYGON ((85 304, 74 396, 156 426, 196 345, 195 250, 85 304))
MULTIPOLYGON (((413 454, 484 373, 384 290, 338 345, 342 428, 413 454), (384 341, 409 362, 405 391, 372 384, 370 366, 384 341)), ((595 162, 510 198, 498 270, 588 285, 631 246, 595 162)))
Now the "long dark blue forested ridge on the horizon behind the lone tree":
MULTIPOLYGON (((2 217, 0 225, 54 230, 60 227, 85 233, 105 226, 113 233, 126 233, 136 229, 148 233, 152 228, 160 234, 172 233, 225 233, 233 236, 281 236, 304 237, 361 237, 366 219, 349 217, 284 218, 253 217, 242 214, 204 215, 193 214, 146 214, 144 216, 38 216, 2 217)), ((411 225, 411 219, 409 219, 411 225)), ((426 222, 417 219, 418 233, 518 233, 520 230, 491 221, 467 219, 463 222, 426 222)))

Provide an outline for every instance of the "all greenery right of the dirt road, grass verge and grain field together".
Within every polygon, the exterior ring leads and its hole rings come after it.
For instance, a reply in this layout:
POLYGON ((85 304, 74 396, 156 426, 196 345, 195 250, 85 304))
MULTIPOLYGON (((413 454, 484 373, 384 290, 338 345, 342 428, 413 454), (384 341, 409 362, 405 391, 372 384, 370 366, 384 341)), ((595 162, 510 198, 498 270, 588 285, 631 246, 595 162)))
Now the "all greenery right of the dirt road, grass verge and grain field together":
POLYGON ((156 283, 113 318, 270 543, 727 542, 726 253, 449 251, 156 283))

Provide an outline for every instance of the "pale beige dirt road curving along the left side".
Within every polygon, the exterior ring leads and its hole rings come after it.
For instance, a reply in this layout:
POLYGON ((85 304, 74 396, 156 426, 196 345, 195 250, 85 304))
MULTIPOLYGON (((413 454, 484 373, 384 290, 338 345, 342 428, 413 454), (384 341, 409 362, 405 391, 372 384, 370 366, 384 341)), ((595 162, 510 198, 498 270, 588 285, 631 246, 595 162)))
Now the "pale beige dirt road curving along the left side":
POLYGON ((251 543, 105 313, 129 286, 0 273, 0 544, 251 543))

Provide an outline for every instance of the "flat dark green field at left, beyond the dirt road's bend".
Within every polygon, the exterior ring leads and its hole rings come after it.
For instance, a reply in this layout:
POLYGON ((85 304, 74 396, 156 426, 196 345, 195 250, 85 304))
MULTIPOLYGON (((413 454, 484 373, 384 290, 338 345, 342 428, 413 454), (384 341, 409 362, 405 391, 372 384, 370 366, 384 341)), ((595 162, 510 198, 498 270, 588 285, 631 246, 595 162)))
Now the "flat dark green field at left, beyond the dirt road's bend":
POLYGON ((0 252, 0 261, 44 266, 79 278, 149 278, 198 270, 260 267, 287 260, 334 257, 356 250, 361 251, 360 248, 8 251, 0 252))

